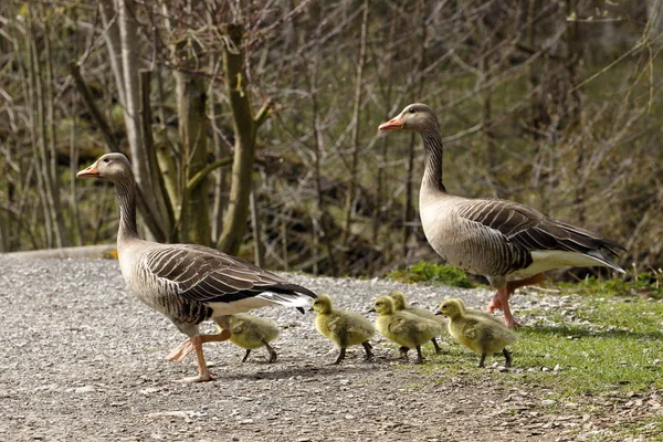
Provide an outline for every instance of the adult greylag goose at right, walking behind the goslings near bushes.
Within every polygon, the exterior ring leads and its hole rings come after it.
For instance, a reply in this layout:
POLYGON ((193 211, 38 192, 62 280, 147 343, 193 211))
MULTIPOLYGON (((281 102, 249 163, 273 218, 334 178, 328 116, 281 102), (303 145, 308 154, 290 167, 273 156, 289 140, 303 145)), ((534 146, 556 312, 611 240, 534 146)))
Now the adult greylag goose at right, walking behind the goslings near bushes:
POLYGON ((625 250, 614 241, 517 202, 448 193, 442 183, 440 125, 429 106, 406 106, 379 129, 412 130, 423 138, 425 164, 419 212, 425 238, 448 263, 484 275, 497 288, 488 311, 503 309, 508 327, 517 325, 508 305, 511 294, 540 282, 541 272, 600 265, 624 273, 611 260, 619 250, 625 250))

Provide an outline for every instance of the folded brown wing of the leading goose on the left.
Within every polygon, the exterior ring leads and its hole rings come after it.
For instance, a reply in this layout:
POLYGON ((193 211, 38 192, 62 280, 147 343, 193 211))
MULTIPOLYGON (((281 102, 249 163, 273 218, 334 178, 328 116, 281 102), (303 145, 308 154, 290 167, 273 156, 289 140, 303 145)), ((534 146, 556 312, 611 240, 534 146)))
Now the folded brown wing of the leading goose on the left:
POLYGON ((316 297, 312 291, 291 284, 274 273, 201 245, 155 248, 141 263, 144 271, 158 283, 173 288, 188 301, 229 303, 260 296, 277 304, 290 304, 293 297, 299 297, 298 294, 316 297))

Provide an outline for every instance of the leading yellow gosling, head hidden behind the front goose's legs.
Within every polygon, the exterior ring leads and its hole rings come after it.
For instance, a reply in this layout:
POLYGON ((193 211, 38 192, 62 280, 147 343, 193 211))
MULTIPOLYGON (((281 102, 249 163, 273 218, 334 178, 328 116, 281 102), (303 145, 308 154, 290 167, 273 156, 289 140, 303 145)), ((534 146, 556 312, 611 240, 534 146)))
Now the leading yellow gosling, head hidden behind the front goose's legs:
POLYGON ((276 361, 276 351, 270 345, 278 336, 278 328, 273 323, 246 314, 214 318, 214 322, 219 332, 230 328, 230 341, 246 349, 242 362, 246 361, 251 350, 260 347, 265 347, 270 351, 267 364, 276 361))

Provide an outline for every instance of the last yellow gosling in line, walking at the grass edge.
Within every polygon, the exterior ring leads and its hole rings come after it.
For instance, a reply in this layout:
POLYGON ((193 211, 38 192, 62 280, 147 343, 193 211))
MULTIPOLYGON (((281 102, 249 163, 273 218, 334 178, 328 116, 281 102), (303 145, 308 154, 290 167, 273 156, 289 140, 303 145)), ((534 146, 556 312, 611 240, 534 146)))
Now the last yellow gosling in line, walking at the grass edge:
POLYGON ((465 308, 459 298, 443 301, 435 314, 449 318, 449 333, 462 345, 481 355, 478 367, 484 367, 487 354, 502 351, 505 367, 512 366, 512 355, 505 348, 516 341, 516 335, 499 320, 488 318, 484 312, 465 308))

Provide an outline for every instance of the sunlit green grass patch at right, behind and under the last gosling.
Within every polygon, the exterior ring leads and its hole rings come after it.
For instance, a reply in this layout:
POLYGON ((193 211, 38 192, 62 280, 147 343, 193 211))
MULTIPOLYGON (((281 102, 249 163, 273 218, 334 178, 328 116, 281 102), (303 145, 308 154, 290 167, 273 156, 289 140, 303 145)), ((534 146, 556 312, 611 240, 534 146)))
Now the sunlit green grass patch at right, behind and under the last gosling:
MULTIPOLYGON (((460 375, 469 383, 541 388, 559 400, 663 389, 663 302, 590 294, 576 299, 572 322, 555 311, 518 312, 546 320, 518 330, 518 341, 511 348, 514 368, 507 372, 476 368, 478 356, 451 338, 443 344, 444 355, 431 356, 432 347, 425 349, 429 364, 418 369, 442 372, 440 382, 460 375)), ((486 359, 488 366, 493 361, 504 360, 501 355, 486 359)))

